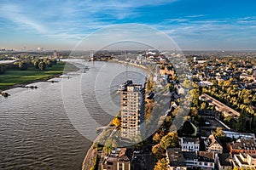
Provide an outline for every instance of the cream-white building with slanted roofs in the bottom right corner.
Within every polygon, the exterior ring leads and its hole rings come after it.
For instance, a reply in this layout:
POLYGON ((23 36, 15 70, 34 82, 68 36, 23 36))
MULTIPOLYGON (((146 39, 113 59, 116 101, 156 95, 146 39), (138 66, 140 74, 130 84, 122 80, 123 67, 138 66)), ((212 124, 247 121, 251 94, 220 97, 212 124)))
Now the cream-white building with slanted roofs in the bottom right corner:
POLYGON ((256 169, 256 155, 239 153, 233 156, 233 167, 256 169))

